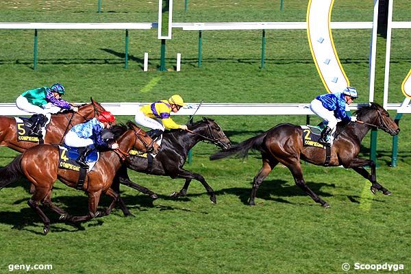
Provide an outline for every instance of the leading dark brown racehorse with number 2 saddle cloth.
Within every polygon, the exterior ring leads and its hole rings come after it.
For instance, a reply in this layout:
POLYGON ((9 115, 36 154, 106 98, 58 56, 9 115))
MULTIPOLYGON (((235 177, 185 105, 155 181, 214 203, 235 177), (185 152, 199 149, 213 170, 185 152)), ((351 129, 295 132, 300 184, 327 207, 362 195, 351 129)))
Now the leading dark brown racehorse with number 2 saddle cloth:
MULTIPOLYGON (((336 138, 331 148, 329 166, 342 165, 346 169, 351 168, 372 183, 371 191, 373 194, 375 194, 376 190, 380 190, 384 195, 390 195, 391 192, 389 190, 377 183, 375 162, 358 158, 358 153, 360 153, 362 138, 372 127, 383 129, 384 132, 388 132, 392 136, 399 133, 399 127, 390 118, 388 112, 377 103, 362 106, 357 110, 356 115, 358 123, 338 123, 336 138), (364 166, 371 167, 371 175, 364 169, 364 166)), ((302 159, 312 164, 324 166, 325 149, 303 147, 302 135, 303 129, 298 125, 282 123, 259 136, 244 140, 226 151, 214 153, 210 156, 210 159, 217 160, 229 155, 245 158, 250 149, 260 151, 262 155, 262 168, 253 179, 253 188, 249 199, 250 206, 255 205, 254 199, 256 198, 258 187, 262 184, 264 178, 280 162, 291 171, 297 186, 302 188, 314 201, 328 208, 329 204, 323 201, 306 185, 300 164, 300 159, 302 159)))

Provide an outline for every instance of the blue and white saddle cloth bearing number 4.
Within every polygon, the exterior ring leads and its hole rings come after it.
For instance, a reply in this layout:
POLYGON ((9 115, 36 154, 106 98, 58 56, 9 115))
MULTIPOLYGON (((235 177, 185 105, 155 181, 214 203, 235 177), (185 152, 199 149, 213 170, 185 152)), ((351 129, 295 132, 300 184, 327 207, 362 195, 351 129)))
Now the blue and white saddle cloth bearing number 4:
MULTIPOLYGON (((59 149, 59 157, 58 157, 58 168, 59 169, 69 169, 71 171, 79 171, 80 166, 75 162, 79 157, 79 153, 85 149, 84 147, 68 147, 58 146, 59 149)), ((88 153, 86 157, 86 162, 88 163, 88 170, 90 172, 92 168, 95 166, 96 162, 99 160, 99 151, 97 149, 93 149, 90 153, 88 153)))

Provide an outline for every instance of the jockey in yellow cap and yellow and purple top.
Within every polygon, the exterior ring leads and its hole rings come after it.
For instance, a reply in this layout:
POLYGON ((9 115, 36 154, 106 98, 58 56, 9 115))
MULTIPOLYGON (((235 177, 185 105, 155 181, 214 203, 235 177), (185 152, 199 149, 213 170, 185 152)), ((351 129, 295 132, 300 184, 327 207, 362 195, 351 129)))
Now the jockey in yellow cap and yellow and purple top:
POLYGON ((169 100, 155 101, 149 105, 144 105, 138 110, 134 120, 138 125, 153 129, 147 132, 151 139, 156 140, 160 145, 164 129, 184 129, 186 125, 178 125, 171 119, 170 112, 177 113, 180 108, 186 105, 179 95, 173 95, 169 100))

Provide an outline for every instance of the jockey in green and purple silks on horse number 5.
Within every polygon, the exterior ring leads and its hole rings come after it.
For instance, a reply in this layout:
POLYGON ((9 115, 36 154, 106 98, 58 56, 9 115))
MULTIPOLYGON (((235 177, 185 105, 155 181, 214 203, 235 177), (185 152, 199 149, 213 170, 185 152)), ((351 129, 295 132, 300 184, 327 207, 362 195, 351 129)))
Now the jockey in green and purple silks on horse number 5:
POLYGON ((33 115, 34 121, 29 129, 29 135, 41 136, 41 127, 45 126, 51 119, 51 113, 59 112, 61 109, 74 110, 79 109, 61 96, 64 95, 64 86, 62 84, 53 84, 50 88, 43 86, 34 90, 27 90, 17 97, 16 106, 18 109, 33 115), (47 119, 46 119, 47 118, 47 119))

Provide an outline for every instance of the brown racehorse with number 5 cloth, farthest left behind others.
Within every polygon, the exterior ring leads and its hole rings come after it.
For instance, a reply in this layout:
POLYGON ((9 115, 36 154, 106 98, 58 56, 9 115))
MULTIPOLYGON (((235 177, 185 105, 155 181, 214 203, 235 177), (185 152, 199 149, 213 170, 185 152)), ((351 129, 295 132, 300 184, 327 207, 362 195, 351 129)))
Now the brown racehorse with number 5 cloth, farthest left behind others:
MULTIPOLYGON (((73 125, 83 123, 99 116, 104 108, 94 101, 79 106, 78 112, 64 110, 57 114, 51 114, 51 121, 47 126, 44 142, 46 144, 58 144, 73 125)), ((29 147, 38 145, 38 142, 17 141, 18 128, 13 117, 0 116, 0 146, 10 147, 18 152, 23 152, 29 147)))

